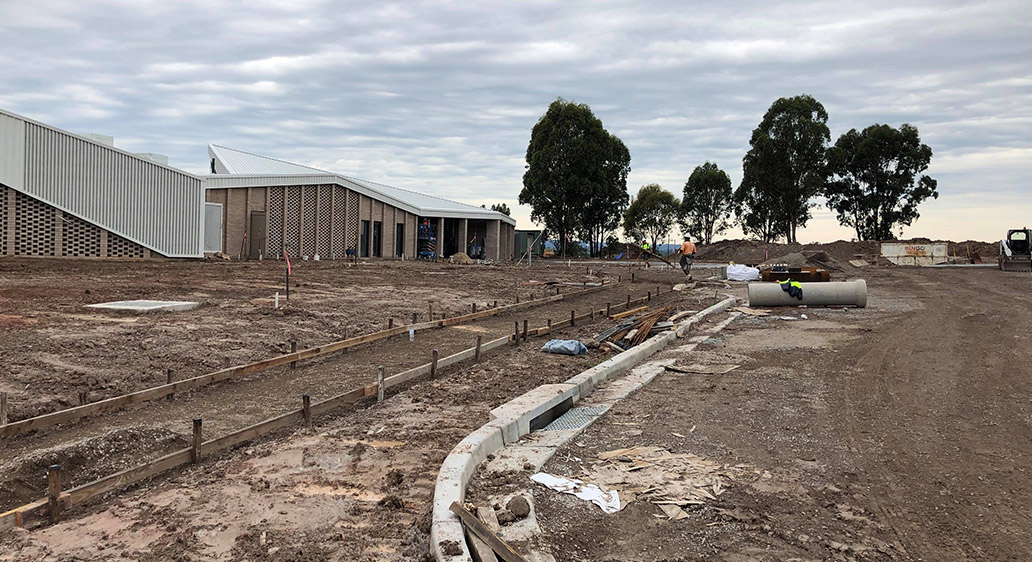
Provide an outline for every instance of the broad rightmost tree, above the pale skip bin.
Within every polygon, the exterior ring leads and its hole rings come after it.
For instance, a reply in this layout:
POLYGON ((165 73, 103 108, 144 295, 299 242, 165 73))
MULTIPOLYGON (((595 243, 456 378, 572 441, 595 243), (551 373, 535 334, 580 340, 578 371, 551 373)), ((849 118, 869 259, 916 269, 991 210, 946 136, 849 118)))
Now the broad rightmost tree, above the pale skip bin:
POLYGON ((935 179, 917 177, 931 160, 932 148, 912 125, 850 129, 829 151, 828 207, 861 240, 894 239, 896 227, 917 219, 922 201, 939 197, 935 179))

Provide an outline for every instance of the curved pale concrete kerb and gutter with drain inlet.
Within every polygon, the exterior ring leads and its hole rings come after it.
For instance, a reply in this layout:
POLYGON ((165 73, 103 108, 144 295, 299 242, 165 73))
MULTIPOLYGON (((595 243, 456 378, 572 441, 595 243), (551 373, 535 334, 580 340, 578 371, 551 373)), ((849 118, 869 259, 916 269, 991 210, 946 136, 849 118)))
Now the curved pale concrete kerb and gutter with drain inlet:
MULTIPOLYGON (((560 445, 583 431, 614 403, 647 385, 673 360, 656 359, 640 363, 678 338, 687 336, 692 326, 711 315, 727 310, 735 301, 734 297, 728 297, 682 321, 675 329, 657 334, 565 383, 542 385, 492 409, 491 420, 455 445, 438 473, 430 529, 433 557, 442 562, 472 562, 462 523, 452 513, 451 506, 455 502, 462 503, 470 480, 484 461, 490 459, 501 470, 519 470, 526 463, 540 468, 560 445), (628 374, 620 376, 627 371, 628 374), (521 438, 563 417, 575 419, 576 422, 571 424, 574 427, 550 432, 546 443, 521 441, 521 438), (519 459, 519 467, 507 466, 517 462, 516 459, 519 459)), ((678 345, 677 351, 690 351, 738 316, 737 312, 732 313, 707 333, 688 337, 687 342, 678 345)))

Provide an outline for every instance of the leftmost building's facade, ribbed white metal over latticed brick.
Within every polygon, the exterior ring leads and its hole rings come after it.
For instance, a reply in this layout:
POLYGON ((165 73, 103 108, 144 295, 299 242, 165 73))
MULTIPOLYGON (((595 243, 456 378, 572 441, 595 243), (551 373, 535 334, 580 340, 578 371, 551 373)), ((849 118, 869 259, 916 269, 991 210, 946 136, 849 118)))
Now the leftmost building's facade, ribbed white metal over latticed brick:
POLYGON ((0 110, 0 256, 193 258, 196 175, 0 110))

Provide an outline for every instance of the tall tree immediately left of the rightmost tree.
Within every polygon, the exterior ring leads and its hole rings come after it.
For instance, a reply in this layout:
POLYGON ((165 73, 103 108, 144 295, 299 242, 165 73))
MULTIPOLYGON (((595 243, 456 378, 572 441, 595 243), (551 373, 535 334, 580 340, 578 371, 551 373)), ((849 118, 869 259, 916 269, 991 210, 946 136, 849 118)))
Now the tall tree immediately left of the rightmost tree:
POLYGON ((828 179, 828 111, 808 95, 779 98, 764 114, 742 161, 735 199, 748 234, 766 241, 796 231, 810 219, 812 199, 828 179))

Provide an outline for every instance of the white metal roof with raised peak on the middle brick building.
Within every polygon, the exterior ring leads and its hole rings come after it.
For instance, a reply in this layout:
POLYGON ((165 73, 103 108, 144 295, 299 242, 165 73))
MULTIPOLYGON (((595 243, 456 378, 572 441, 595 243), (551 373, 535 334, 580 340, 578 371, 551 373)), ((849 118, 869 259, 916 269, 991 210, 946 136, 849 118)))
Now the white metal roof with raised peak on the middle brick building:
POLYGON ((443 197, 341 175, 218 144, 209 144, 207 152, 208 156, 215 159, 215 168, 218 172, 204 176, 204 185, 207 189, 335 183, 421 217, 501 220, 510 225, 516 225, 514 219, 498 211, 459 203, 443 197))

